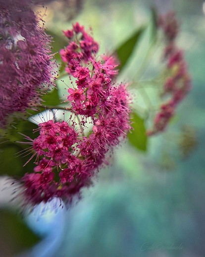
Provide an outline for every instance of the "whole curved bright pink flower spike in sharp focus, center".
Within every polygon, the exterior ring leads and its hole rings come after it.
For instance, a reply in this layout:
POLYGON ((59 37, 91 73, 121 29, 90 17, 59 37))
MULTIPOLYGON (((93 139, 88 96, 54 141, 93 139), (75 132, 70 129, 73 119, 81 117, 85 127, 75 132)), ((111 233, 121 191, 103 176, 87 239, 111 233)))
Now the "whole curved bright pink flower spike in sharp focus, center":
POLYGON ((71 116, 67 122, 41 123, 36 139, 26 137, 37 165, 34 173, 22 178, 32 203, 55 196, 71 202, 74 195, 79 196, 80 189, 89 186, 99 167, 106 164, 108 150, 130 129, 126 85, 113 82, 115 58, 103 56, 97 61, 98 43, 78 23, 64 34, 69 43, 60 54, 66 71, 76 78, 65 101, 71 116))

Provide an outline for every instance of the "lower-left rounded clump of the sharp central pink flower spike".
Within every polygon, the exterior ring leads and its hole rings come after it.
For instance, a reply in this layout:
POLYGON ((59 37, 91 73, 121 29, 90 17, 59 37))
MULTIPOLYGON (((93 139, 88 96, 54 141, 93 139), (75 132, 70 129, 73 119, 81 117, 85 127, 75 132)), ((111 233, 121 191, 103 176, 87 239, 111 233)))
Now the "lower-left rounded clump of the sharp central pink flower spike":
POLYGON ((69 201, 89 183, 92 175, 91 170, 85 169, 86 163, 75 146, 80 142, 79 135, 64 121, 49 120, 39 124, 37 130, 40 135, 36 139, 26 137, 34 150, 31 158, 36 155, 37 164, 34 173, 27 173, 22 178, 27 200, 38 203, 57 196, 69 201))

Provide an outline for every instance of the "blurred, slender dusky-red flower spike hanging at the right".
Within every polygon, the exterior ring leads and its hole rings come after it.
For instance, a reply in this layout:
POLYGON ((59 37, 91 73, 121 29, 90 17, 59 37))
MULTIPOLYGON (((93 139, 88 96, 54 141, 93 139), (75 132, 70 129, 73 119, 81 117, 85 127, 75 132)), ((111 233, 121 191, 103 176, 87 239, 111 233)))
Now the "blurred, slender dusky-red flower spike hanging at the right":
POLYGON ((177 105, 191 89, 191 78, 183 52, 175 45, 179 25, 174 12, 168 12, 164 16, 160 16, 158 24, 165 36, 166 47, 163 58, 166 61, 168 74, 162 95, 168 95, 169 98, 166 103, 160 106, 160 110, 154 118, 154 128, 148 131, 148 135, 153 135, 166 128, 175 113, 177 105))

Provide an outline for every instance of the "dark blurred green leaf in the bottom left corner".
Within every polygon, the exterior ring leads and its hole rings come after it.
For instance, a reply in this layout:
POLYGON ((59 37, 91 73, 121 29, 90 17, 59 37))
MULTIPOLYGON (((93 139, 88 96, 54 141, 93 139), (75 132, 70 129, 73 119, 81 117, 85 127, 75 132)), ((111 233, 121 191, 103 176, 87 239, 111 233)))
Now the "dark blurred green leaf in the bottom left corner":
POLYGON ((8 210, 0 210, 0 256, 14 256, 40 240, 23 220, 8 210))

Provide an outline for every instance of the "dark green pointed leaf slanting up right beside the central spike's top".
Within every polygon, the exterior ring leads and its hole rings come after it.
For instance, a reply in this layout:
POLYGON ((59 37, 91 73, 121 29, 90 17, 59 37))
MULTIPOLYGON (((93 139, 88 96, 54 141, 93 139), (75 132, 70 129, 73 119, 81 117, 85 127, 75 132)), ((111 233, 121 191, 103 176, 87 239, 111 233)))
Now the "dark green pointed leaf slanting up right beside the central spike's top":
POLYGON ((134 48, 139 43, 141 35, 145 31, 145 27, 139 28, 127 41, 125 41, 121 46, 116 49, 117 57, 120 61, 119 70, 121 70, 127 61, 129 60, 130 56, 133 53, 134 48))

